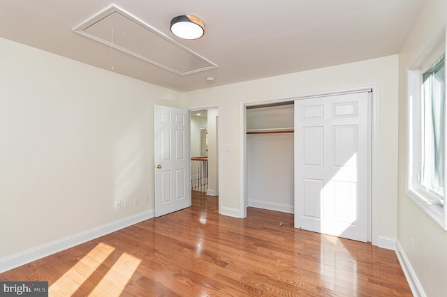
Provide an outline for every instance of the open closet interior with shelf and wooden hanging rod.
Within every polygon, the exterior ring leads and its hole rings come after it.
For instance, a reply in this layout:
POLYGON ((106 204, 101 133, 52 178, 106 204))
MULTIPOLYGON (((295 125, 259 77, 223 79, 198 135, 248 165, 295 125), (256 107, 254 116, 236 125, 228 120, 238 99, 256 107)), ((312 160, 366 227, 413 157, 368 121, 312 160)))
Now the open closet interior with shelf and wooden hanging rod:
POLYGON ((294 101, 247 106, 247 206, 294 213, 294 101))

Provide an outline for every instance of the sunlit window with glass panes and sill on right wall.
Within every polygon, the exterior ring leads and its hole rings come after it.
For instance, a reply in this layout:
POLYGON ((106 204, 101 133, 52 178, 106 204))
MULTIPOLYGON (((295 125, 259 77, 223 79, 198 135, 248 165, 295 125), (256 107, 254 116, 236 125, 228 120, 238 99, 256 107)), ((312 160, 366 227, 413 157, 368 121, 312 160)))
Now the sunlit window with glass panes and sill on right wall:
POLYGON ((408 73, 408 194, 447 230, 445 55, 408 73))

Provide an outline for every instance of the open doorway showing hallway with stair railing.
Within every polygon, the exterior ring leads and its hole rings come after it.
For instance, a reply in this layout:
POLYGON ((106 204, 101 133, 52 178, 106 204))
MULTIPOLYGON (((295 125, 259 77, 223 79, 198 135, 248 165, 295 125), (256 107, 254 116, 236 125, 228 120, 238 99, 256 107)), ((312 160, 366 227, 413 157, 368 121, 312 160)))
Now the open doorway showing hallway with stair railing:
POLYGON ((217 108, 191 110, 191 190, 219 195, 217 108))

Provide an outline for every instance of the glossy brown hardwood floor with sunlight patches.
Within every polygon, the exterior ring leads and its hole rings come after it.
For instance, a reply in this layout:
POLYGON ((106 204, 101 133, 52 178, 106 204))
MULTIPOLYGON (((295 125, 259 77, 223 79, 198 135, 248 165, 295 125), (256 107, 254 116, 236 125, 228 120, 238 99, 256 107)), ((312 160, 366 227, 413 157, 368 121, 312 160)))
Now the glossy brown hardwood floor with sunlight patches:
POLYGON ((293 228, 293 215, 219 215, 217 197, 0 274, 50 296, 411 296, 395 252, 293 228), (283 222, 280 226, 280 222, 283 222))

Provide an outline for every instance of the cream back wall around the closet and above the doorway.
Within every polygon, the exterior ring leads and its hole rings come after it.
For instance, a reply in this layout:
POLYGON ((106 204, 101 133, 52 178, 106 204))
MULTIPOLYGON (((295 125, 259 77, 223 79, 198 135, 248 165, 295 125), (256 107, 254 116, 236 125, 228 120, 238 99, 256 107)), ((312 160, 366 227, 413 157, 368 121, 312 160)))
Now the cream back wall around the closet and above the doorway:
MULTIPOLYGON (((183 93, 184 107, 219 105, 221 212, 244 215, 244 103, 334 92, 376 85, 378 106, 377 238, 397 238, 397 98, 398 56, 349 63, 302 73, 257 79, 183 93), (230 146, 231 151, 226 151, 230 146)), ((373 238, 374 239, 374 238, 373 238)), ((380 244, 380 243, 379 243, 380 244)))

